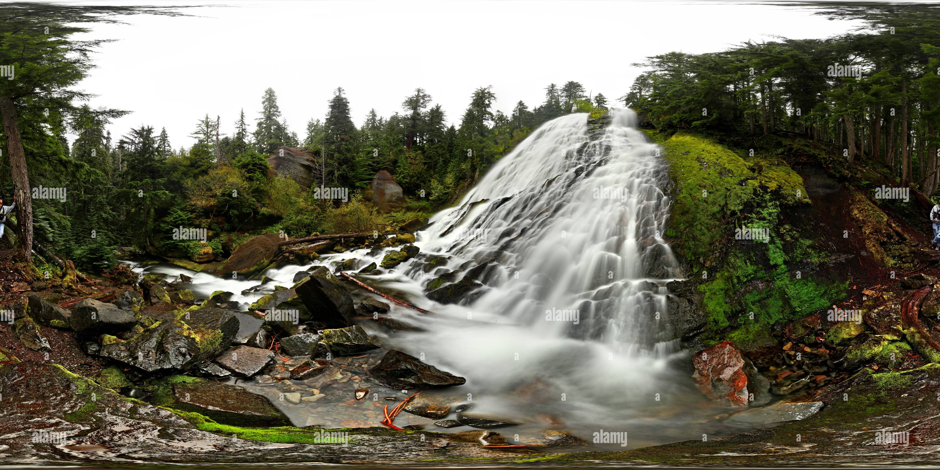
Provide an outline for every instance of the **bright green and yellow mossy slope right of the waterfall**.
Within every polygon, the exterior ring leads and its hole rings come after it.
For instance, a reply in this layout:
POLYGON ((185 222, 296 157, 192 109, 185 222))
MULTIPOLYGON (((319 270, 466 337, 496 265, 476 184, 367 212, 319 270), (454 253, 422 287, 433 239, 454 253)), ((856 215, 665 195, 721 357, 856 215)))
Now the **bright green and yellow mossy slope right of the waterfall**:
POLYGON ((772 325, 844 297, 845 282, 812 275, 827 255, 802 228, 811 203, 788 164, 690 133, 653 140, 676 184, 666 236, 703 293, 706 345, 763 343, 772 325), (742 228, 765 229, 769 239, 738 240, 742 228))

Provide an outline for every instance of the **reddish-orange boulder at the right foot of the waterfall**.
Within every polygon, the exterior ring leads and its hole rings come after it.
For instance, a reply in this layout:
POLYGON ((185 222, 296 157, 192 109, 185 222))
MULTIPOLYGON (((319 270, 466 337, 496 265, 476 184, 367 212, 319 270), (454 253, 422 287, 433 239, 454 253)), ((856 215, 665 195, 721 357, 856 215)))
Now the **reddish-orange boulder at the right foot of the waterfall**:
POLYGON ((710 399, 727 400, 734 406, 759 401, 759 392, 764 394, 763 385, 770 386, 730 341, 696 352, 693 364, 696 372, 692 377, 698 389, 710 399))

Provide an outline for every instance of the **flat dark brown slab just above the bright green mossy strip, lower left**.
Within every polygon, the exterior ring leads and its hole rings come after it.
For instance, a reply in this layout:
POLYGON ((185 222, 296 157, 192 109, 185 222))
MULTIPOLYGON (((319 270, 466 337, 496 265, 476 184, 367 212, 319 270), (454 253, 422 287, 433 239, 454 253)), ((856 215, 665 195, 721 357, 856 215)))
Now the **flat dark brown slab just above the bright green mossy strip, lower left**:
POLYGON ((173 402, 166 404, 171 408, 233 426, 290 426, 290 419, 274 403, 240 386, 192 378, 172 386, 173 402))

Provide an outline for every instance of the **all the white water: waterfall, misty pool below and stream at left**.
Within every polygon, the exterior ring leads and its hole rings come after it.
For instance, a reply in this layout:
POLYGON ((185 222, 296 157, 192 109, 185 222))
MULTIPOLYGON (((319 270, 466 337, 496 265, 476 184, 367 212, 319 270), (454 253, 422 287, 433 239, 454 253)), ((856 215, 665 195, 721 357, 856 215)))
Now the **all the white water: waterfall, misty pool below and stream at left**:
MULTIPOLYGON (((603 136, 590 141, 586 115, 546 123, 416 234, 422 254, 449 257, 448 270, 493 261, 480 277, 486 287, 469 304, 425 297, 439 268, 424 273, 423 256, 363 276, 435 312, 394 305, 392 317, 428 332, 384 337, 384 345, 466 377, 447 392, 471 395, 481 411, 527 422, 551 414, 588 439, 592 430, 629 431, 631 447, 697 438, 704 425, 677 420, 701 422, 695 416, 709 412, 688 371, 670 366, 687 356, 666 308, 665 284, 680 275, 662 239, 666 163, 634 125, 632 111, 614 110, 603 136), (604 188, 617 198, 606 198, 604 188), (577 324, 546 320, 546 310, 575 310, 577 324), (664 414, 678 426, 664 428, 664 414)), ((383 256, 362 249, 315 264, 332 270, 334 261, 360 258, 365 265, 383 256)), ((266 274, 290 285, 308 267, 266 274)), ((187 274, 202 296, 257 284, 187 274)))

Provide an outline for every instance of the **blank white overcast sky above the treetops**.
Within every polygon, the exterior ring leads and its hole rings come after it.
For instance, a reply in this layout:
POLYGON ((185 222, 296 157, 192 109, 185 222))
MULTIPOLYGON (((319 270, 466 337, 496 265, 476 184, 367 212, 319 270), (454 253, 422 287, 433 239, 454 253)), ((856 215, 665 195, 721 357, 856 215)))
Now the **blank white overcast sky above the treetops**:
POLYGON ((478 86, 492 85, 495 108, 507 114, 569 80, 613 102, 640 72, 632 64, 649 55, 777 35, 825 38, 858 25, 808 8, 728 2, 292 0, 186 12, 198 16, 133 16, 84 35, 118 39, 99 49, 98 67, 79 86, 99 95, 92 106, 133 111, 110 126, 116 139, 148 124, 165 127, 175 149, 189 148, 197 119, 221 116, 230 134, 241 108, 254 131, 268 86, 301 139, 337 86, 357 126, 369 108, 385 117, 400 111, 418 86, 451 122, 478 86))

